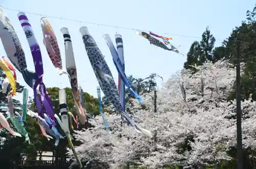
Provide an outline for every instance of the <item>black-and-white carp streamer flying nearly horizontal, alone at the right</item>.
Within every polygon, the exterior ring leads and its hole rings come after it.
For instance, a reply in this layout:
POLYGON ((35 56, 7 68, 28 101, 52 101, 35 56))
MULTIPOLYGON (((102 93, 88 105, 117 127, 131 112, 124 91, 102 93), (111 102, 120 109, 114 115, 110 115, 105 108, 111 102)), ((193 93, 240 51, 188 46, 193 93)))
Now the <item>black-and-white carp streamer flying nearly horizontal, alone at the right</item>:
MULTIPOLYGON (((172 45, 171 43, 169 43, 169 45, 170 45, 170 48, 169 48, 163 42, 161 42, 160 40, 154 38, 153 36, 151 36, 150 34, 148 34, 146 32, 137 30, 136 34, 142 36, 143 38, 146 38, 148 41, 150 41, 150 44, 154 44, 155 46, 161 47, 162 49, 167 50, 167 51, 173 51, 173 52, 175 52, 177 54, 181 54, 178 51, 178 49, 174 45, 172 45)), ((181 54, 181 55, 183 55, 183 54, 181 54)))

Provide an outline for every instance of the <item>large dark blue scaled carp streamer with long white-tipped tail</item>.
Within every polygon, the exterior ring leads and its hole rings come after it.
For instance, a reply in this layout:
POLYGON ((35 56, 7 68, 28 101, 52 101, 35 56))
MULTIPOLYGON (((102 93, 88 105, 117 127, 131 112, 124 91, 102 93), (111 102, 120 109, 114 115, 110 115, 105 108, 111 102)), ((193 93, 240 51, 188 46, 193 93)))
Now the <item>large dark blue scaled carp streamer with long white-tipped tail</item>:
POLYGON ((99 82, 100 88, 106 96, 106 99, 111 101, 115 109, 120 114, 122 114, 127 122, 129 122, 133 127, 135 127, 143 134, 152 137, 153 135, 150 131, 140 128, 126 112, 122 111, 122 105, 119 101, 118 91, 114 78, 111 74, 108 64, 106 64, 106 61, 103 58, 101 51, 99 50, 99 47, 89 33, 87 27, 81 27, 80 33, 92 68, 99 82))

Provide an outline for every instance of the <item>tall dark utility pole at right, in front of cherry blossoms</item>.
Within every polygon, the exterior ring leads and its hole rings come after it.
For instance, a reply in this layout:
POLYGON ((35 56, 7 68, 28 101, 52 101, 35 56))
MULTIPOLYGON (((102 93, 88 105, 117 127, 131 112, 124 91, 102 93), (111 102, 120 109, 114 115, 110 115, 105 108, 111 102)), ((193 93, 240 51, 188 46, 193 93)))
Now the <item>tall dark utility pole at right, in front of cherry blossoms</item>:
POLYGON ((237 40, 237 77, 236 77, 236 95, 237 95, 237 159, 238 169, 243 169, 243 144, 242 144, 242 112, 241 112, 241 75, 240 75, 240 45, 241 41, 237 40))

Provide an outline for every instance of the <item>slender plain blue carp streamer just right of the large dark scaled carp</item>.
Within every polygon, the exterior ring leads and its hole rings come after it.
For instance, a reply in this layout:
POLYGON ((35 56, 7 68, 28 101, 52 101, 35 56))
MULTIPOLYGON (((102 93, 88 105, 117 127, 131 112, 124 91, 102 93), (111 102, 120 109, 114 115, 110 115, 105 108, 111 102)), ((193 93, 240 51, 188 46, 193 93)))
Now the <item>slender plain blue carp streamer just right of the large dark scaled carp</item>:
POLYGON ((122 62, 120 61, 120 58, 119 58, 119 56, 118 56, 118 54, 117 54, 117 51, 116 51, 116 49, 115 49, 115 46, 114 46, 114 44, 113 44, 113 42, 112 42, 112 40, 111 40, 109 34, 104 34, 104 35, 103 35, 103 38, 105 39, 106 44, 108 44, 108 46, 109 46, 111 55, 112 55, 112 57, 113 57, 114 64, 115 64, 115 66, 116 66, 116 69, 117 69, 117 71, 118 71, 118 74, 119 74, 119 76, 121 77, 123 83, 125 84, 125 86, 126 86, 127 88, 129 88, 129 90, 130 90, 130 92, 133 94, 133 96, 135 96, 135 98, 141 103, 142 100, 140 99, 140 96, 139 96, 135 91, 133 91, 132 86, 131 86, 129 80, 128 80, 127 76, 125 75, 124 71, 123 71, 123 68, 122 68, 122 67, 123 67, 123 66, 122 66, 123 64, 122 64, 122 62))

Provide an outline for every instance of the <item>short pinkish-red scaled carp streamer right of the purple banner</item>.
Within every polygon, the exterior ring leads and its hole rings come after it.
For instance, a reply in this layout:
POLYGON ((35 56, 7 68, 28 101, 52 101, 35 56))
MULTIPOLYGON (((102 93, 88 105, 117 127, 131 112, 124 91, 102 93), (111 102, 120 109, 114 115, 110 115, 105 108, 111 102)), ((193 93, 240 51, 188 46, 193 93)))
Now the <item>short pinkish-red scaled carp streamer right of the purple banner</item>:
POLYGON ((50 25, 50 22, 47 20, 46 17, 41 18, 41 28, 42 34, 44 36, 44 45, 46 46, 47 53, 55 66, 58 70, 59 75, 68 74, 66 70, 62 68, 62 61, 59 51, 59 46, 57 42, 56 35, 50 25))

